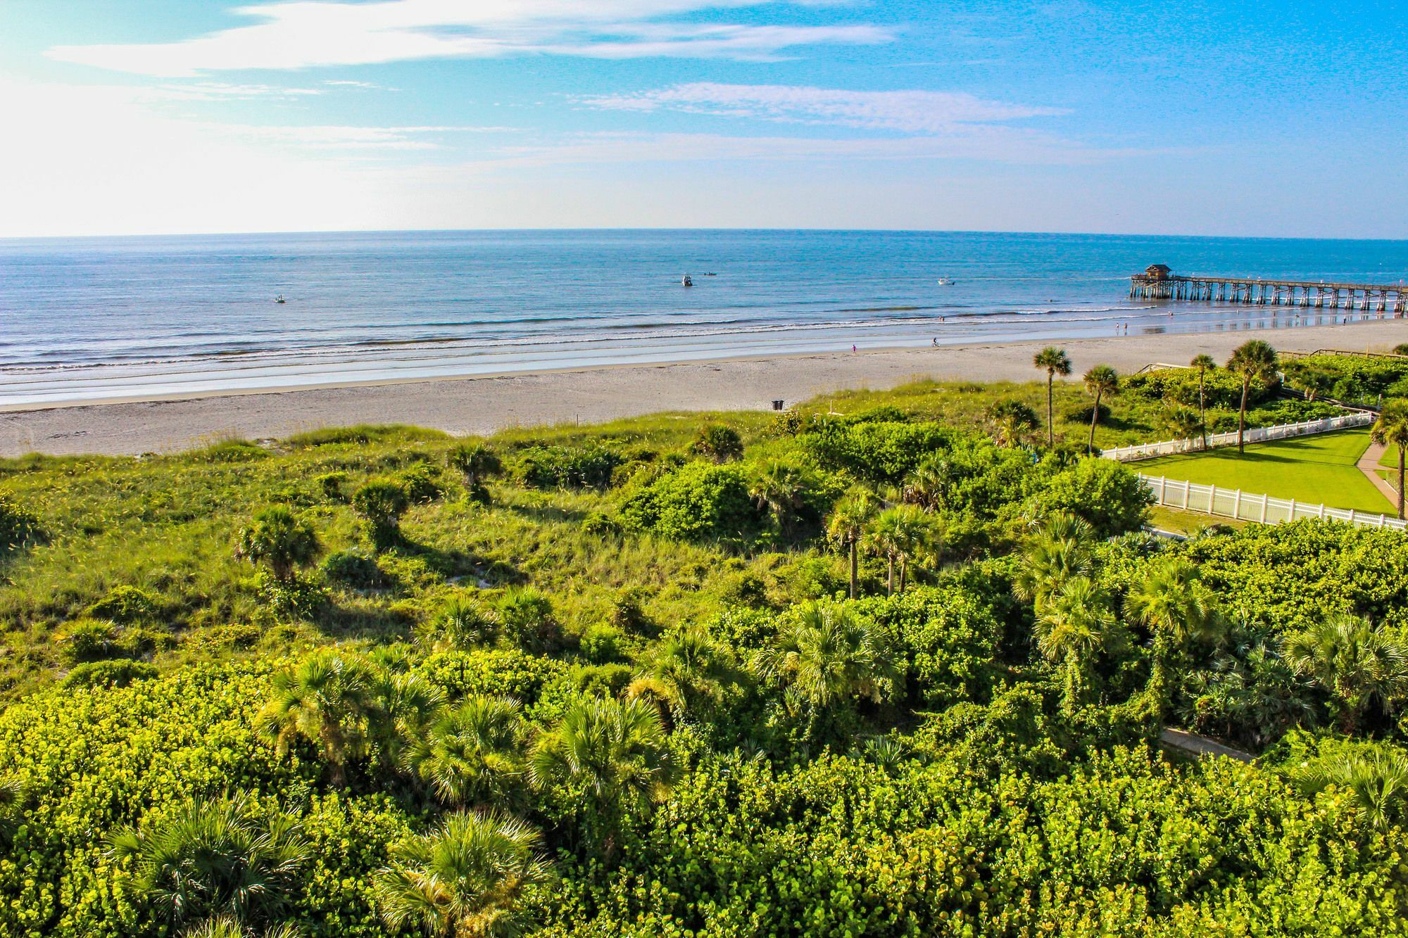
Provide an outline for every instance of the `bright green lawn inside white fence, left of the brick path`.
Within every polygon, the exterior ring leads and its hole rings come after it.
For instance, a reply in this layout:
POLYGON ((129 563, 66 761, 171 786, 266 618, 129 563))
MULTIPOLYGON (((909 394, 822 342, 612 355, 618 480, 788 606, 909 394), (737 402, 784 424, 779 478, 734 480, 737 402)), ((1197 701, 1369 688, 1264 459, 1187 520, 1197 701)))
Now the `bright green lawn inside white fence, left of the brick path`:
POLYGON ((1132 463, 1150 476, 1242 489, 1252 494, 1324 503, 1332 508, 1388 513, 1388 500, 1354 463, 1369 448, 1367 430, 1236 446, 1187 456, 1162 456, 1132 463))

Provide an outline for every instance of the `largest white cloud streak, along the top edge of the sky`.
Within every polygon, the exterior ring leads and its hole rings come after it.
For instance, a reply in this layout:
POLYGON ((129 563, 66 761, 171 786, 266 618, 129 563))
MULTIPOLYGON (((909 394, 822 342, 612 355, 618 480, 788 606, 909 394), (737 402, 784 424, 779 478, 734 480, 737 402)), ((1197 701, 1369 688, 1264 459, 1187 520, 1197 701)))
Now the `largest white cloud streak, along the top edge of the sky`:
POLYGON ((872 25, 777 27, 662 23, 660 17, 759 0, 297 0, 238 7, 260 23, 179 42, 63 45, 51 58, 117 72, 194 77, 539 52, 597 58, 772 58, 818 42, 876 44, 872 25))

